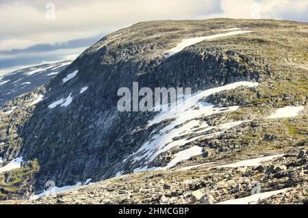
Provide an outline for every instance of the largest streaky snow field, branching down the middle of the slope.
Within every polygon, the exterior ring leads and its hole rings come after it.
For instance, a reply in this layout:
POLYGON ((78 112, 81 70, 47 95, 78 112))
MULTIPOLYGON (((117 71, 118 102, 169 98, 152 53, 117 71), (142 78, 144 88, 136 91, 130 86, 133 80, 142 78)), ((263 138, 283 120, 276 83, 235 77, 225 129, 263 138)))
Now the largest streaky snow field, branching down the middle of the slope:
MULTIPOLYGON (((201 103, 199 100, 201 100, 201 98, 209 96, 210 94, 221 92, 222 90, 231 90, 236 87, 240 87, 242 85, 247 87, 255 87, 259 85, 259 83, 242 81, 242 82, 232 83, 229 85, 224 85, 222 87, 216 87, 209 90, 196 92, 195 94, 192 94, 190 98, 185 98, 185 100, 183 100, 182 103, 172 105, 169 111, 160 112, 158 115, 155 116, 153 120, 149 121, 150 126, 153 124, 158 124, 164 120, 168 119, 174 119, 174 120, 170 122, 168 125, 166 125, 164 128, 162 128, 162 130, 160 130, 158 133, 156 133, 157 130, 154 130, 149 136, 149 139, 146 141, 146 143, 143 144, 138 151, 128 156, 127 159, 133 156, 133 159, 135 161, 142 160, 144 164, 147 164, 150 161, 153 161, 153 159, 155 159, 155 157, 157 157, 162 152, 170 150, 175 146, 179 147, 183 146, 201 137, 213 137, 214 135, 219 135, 220 133, 227 131, 229 128, 238 126, 243 122, 249 122, 250 120, 246 120, 246 121, 230 122, 227 124, 208 127, 207 123, 197 120, 197 118, 203 115, 211 115, 214 113, 222 113, 226 111, 236 111, 238 107, 218 108, 214 107, 214 105, 211 105, 209 103, 201 103), (181 126, 175 128, 176 126, 179 125, 181 126), (211 134, 205 133, 206 131, 209 131, 213 128, 216 129, 216 133, 211 133, 211 134), (205 134, 193 138, 185 137, 185 135, 187 135, 188 133, 205 133, 205 134), (182 139, 175 139, 175 137, 181 137, 181 136, 184 137, 182 139)), ((190 152, 191 150, 183 150, 181 154, 178 153, 179 156, 177 156, 176 154, 177 158, 174 161, 171 161, 170 165, 168 165, 167 167, 172 167, 173 165, 181 161, 180 158, 181 156, 185 156, 185 158, 187 156, 191 156, 190 152)), ((197 153, 198 152, 196 152, 196 155, 197 153)), ((123 160, 123 162, 125 162, 127 159, 123 160)), ((151 170, 153 169, 159 169, 159 168, 157 167, 151 168, 151 170)), ((148 171, 150 169, 148 169, 146 166, 138 167, 134 170, 134 172, 140 172, 144 170, 148 171)))

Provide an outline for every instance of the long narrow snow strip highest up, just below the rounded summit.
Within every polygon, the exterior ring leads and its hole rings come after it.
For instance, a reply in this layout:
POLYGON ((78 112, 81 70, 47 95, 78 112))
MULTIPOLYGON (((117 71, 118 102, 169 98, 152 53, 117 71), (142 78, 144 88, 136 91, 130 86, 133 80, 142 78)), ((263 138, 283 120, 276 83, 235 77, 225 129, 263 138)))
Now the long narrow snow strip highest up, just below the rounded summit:
POLYGON ((220 37, 235 36, 235 35, 239 35, 239 34, 243 34, 243 33, 251 33, 251 32, 252 31, 238 30, 238 31, 231 31, 231 32, 228 32, 228 33, 219 33, 219 34, 215 34, 215 35, 211 35, 211 36, 188 38, 188 39, 182 40, 182 42, 177 44, 177 46, 175 46, 175 48, 170 49, 166 53, 168 53, 168 57, 170 57, 172 55, 175 55, 176 53, 179 53, 180 51, 182 51, 186 47, 191 46, 193 44, 196 44, 198 42, 202 42, 203 40, 214 40, 214 39, 220 38, 220 37))

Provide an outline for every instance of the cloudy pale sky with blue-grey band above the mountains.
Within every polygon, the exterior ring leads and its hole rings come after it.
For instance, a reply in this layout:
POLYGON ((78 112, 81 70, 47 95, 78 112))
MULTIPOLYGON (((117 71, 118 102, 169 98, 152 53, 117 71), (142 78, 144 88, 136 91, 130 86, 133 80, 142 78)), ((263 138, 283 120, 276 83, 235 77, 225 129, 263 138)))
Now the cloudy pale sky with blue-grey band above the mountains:
POLYGON ((133 23, 218 17, 308 22, 308 1, 0 0, 0 72, 75 59, 133 23))

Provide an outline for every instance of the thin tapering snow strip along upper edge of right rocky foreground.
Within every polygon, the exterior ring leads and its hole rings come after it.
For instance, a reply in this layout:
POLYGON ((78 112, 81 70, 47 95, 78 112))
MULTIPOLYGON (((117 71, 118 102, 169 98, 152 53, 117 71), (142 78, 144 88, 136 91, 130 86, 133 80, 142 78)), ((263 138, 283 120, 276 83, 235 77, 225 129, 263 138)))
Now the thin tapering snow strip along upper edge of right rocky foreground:
POLYGON ((220 165, 216 167, 211 167, 210 169, 216 169, 216 168, 223 168, 223 167, 230 167, 230 168, 235 168, 235 167, 254 167, 254 166, 259 166, 262 164, 262 162, 265 161, 270 161, 272 159, 275 159, 277 157, 284 156, 285 154, 277 154, 277 155, 272 155, 272 156, 263 156, 257 159, 248 159, 244 161, 239 161, 237 163, 231 163, 231 164, 226 164, 226 165, 220 165))

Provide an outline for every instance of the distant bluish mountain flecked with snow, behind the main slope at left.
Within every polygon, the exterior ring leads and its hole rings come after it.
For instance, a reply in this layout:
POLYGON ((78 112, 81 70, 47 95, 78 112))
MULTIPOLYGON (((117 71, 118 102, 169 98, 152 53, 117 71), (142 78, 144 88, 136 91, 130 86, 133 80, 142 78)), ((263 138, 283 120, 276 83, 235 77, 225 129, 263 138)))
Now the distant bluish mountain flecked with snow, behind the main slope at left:
POLYGON ((0 107, 8 100, 29 92, 50 81, 71 62, 41 64, 9 72, 0 77, 0 107))

